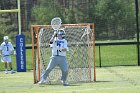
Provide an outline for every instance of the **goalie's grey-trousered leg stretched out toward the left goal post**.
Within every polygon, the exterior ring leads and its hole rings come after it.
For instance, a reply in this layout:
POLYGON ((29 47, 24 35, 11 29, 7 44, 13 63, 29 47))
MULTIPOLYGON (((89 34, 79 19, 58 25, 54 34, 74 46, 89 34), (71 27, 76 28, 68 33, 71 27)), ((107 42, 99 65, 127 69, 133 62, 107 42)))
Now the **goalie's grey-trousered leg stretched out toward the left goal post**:
POLYGON ((48 82, 47 81, 47 78, 49 76, 49 73, 57 65, 56 60, 57 60, 57 57, 56 56, 51 57, 50 62, 48 64, 47 68, 46 68, 46 71, 44 72, 43 75, 41 75, 41 80, 38 82, 39 84, 48 82))

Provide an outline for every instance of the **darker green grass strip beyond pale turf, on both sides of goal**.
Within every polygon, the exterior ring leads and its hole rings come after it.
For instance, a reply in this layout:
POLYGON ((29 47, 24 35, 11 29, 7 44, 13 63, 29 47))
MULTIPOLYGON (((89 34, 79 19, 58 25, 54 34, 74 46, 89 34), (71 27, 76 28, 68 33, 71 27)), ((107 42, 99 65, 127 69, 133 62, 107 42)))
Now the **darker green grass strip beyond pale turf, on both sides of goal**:
MULTIPOLYGON (((101 46, 100 48, 101 48, 101 62, 102 62, 101 65, 102 66, 137 65, 138 64, 136 45, 101 46)), ((12 56, 12 60, 13 60, 13 67, 16 70, 15 56, 12 56)), ((99 47, 96 46, 96 66, 99 66, 100 64, 99 62, 100 62, 99 61, 99 47)), ((31 70, 33 68, 31 49, 26 50, 26 67, 27 67, 27 70, 31 70)), ((4 64, 1 62, 0 62, 0 70, 4 70, 4 64)))

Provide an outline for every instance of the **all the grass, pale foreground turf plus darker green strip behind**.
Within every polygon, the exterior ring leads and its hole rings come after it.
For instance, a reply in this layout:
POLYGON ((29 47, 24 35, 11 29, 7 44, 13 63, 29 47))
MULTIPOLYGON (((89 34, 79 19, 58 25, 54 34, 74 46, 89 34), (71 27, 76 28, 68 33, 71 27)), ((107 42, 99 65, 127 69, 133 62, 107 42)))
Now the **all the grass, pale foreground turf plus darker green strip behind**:
MULTIPOLYGON (((140 67, 137 65, 135 45, 101 47, 102 67, 96 69, 97 81, 91 83, 70 83, 38 85, 33 84, 32 52, 26 51, 27 72, 5 74, 0 63, 0 93, 140 93, 140 67), (116 66, 117 65, 117 66, 116 66)), ((96 65, 99 66, 99 52, 96 47, 96 65)), ((15 56, 12 56, 16 70, 15 56)))

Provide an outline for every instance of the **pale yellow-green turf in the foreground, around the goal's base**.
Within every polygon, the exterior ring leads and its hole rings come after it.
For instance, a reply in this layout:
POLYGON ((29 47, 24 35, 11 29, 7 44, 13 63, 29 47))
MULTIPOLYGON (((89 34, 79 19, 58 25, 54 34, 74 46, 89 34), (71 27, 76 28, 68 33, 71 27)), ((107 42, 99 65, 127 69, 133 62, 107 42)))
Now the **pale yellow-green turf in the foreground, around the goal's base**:
POLYGON ((97 68, 97 81, 70 86, 33 84, 33 72, 0 72, 0 93, 140 93, 140 67, 97 68))

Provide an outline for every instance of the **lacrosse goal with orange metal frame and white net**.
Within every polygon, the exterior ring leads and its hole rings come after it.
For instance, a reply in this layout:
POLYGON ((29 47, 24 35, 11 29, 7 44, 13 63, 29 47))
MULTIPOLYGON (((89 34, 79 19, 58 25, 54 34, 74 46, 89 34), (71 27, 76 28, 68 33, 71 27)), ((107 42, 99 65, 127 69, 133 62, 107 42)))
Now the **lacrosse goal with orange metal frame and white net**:
MULTIPOLYGON (((96 81, 94 24, 63 24, 63 27, 69 47, 67 80, 69 82, 96 81)), ((34 83, 37 83, 52 55, 49 40, 54 31, 50 25, 32 25, 31 32, 34 83), (40 30, 41 28, 46 30, 40 30)), ((56 66, 50 72, 49 79, 57 82, 60 77, 61 70, 56 66)))

